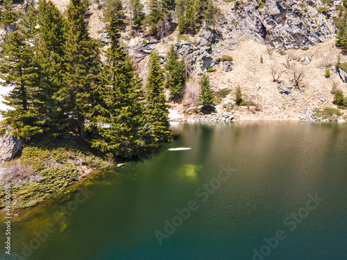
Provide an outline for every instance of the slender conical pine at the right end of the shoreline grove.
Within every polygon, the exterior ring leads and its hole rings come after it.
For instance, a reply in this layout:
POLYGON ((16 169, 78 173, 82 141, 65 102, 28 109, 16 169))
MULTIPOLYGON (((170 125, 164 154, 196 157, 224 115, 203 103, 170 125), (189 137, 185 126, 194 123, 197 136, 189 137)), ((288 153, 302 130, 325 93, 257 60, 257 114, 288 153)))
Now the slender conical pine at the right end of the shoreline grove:
POLYGON ((152 51, 149 56, 149 76, 146 84, 146 107, 144 113, 144 135, 150 144, 171 141, 169 129, 169 111, 165 105, 165 96, 158 53, 152 51))

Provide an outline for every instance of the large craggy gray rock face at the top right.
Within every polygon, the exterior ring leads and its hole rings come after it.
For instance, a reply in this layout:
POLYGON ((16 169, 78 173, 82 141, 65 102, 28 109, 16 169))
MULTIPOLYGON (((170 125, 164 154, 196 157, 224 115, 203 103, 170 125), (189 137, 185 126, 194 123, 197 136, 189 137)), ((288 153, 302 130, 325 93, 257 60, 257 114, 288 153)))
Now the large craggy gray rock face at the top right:
POLYGON ((270 43, 276 49, 313 46, 328 40, 337 30, 329 18, 336 16, 337 11, 332 8, 327 19, 325 13, 317 10, 321 6, 320 0, 268 0, 264 8, 259 8, 258 1, 244 1, 221 20, 220 31, 230 44, 243 35, 270 43))

